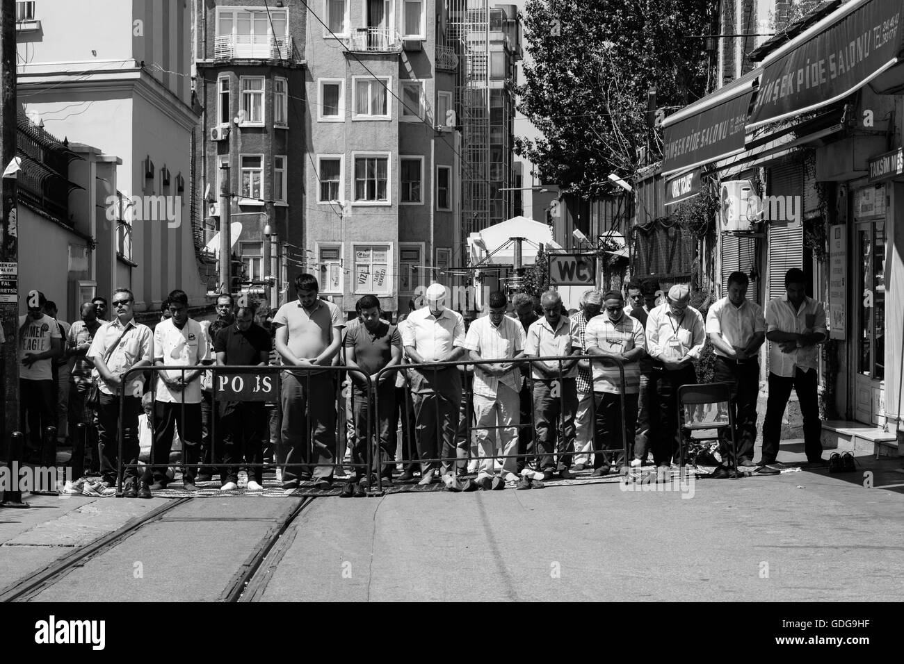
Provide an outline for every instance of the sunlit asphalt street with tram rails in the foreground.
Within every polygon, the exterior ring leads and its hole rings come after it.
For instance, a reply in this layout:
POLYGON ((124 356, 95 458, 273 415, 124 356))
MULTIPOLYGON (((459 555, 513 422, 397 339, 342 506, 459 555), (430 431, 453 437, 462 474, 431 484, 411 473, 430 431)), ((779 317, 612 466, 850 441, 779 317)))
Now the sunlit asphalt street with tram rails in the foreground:
MULTIPOLYGON (((692 492, 610 478, 318 498, 280 538, 253 601, 899 601, 904 473, 899 460, 860 461, 847 475, 702 479, 692 492)), ((42 496, 0 510, 0 585, 164 502, 42 496)), ((33 599, 216 601, 297 504, 192 500, 33 599)))

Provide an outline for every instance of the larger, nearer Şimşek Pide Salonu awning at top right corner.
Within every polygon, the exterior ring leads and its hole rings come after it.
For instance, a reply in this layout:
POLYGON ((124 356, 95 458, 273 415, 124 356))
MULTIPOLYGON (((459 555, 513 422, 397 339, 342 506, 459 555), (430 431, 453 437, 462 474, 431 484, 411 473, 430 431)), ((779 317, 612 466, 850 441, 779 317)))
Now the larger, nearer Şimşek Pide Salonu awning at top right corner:
POLYGON ((899 61, 904 5, 852 0, 769 54, 748 129, 847 97, 899 61))

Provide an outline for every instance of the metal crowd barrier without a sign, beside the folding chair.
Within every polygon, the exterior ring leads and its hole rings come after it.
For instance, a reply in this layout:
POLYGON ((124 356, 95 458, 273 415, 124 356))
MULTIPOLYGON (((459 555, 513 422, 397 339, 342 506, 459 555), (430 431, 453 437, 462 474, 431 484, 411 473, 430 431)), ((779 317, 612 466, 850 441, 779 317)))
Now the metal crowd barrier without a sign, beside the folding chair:
MULTIPOLYGON (((536 423, 537 423, 536 402, 533 398, 531 399, 531 420, 532 420, 531 422, 519 422, 518 424, 513 423, 511 425, 502 425, 502 426, 474 426, 474 425, 472 425, 472 413, 471 413, 471 408, 472 408, 472 404, 473 404, 473 396, 474 396, 473 388, 467 387, 467 388, 464 388, 461 390, 460 394, 462 396, 466 397, 466 401, 463 404, 461 402, 461 399, 457 398, 456 395, 454 394, 457 392, 456 379, 450 378, 449 375, 446 374, 446 376, 444 377, 445 382, 441 383, 440 379, 443 378, 442 377, 443 373, 445 373, 451 369, 454 369, 456 371, 459 369, 462 369, 465 372, 465 374, 467 374, 468 368, 473 368, 473 367, 476 367, 479 365, 485 365, 485 364, 511 364, 511 365, 513 365, 513 367, 518 366, 519 368, 522 366, 526 366, 529 368, 529 370, 527 371, 527 374, 528 374, 527 375, 527 386, 531 393, 534 392, 534 390, 536 388, 535 384, 537 382, 549 382, 549 383, 552 383, 555 381, 559 382, 558 397, 560 399, 560 405, 559 405, 559 413, 558 413, 557 417, 559 417, 561 419, 562 424, 564 425, 565 420, 567 419, 565 415, 566 415, 566 413, 569 413, 569 409, 566 407, 566 403, 565 403, 566 394, 565 394, 565 389, 563 389, 563 387, 564 387, 563 380, 568 379, 568 377, 563 374, 567 374, 570 371, 571 367, 569 367, 567 369, 563 369, 563 364, 567 363, 567 364, 571 364, 571 365, 576 365, 579 360, 589 360, 590 365, 591 365, 591 370, 592 370, 592 367, 594 366, 594 364, 596 364, 596 365, 602 364, 604 366, 605 365, 614 366, 618 370, 618 379, 619 379, 618 382, 619 382, 619 385, 621 386, 621 389, 619 391, 619 408, 620 408, 621 421, 623 423, 623 426, 620 427, 621 434, 622 434, 622 450, 621 451, 622 451, 622 454, 624 454, 624 457, 623 457, 624 463, 628 463, 628 456, 629 456, 631 450, 630 450, 630 446, 628 444, 628 433, 626 430, 626 426, 624 426, 624 422, 626 419, 625 387, 624 387, 625 386, 625 365, 624 365, 624 362, 622 360, 620 360, 619 358, 612 357, 612 356, 601 356, 601 355, 571 355, 567 358, 541 357, 541 358, 523 358, 523 359, 519 359, 519 360, 485 359, 485 360, 466 360, 466 361, 452 361, 452 362, 428 362, 428 363, 424 363, 424 364, 397 364, 397 365, 394 365, 391 367, 385 367, 383 369, 380 369, 380 371, 377 372, 376 376, 377 376, 378 384, 381 383, 381 379, 385 374, 395 374, 400 371, 408 372, 409 374, 411 372, 417 372, 420 375, 421 379, 425 379, 426 376, 429 376, 430 379, 432 379, 428 383, 427 390, 419 392, 419 393, 414 392, 412 390, 412 397, 414 396, 414 394, 420 394, 421 396, 415 401, 415 403, 418 406, 418 407, 416 407, 417 412, 415 414, 415 420, 416 420, 415 435, 410 436, 408 440, 409 440, 409 444, 411 444, 412 438, 415 440, 419 454, 417 454, 417 456, 415 456, 414 455, 415 453, 409 449, 407 451, 408 454, 403 454, 403 455, 408 459, 419 458, 422 472, 426 472, 431 468, 433 468, 433 470, 436 470, 435 466, 437 464, 439 464, 441 468, 443 465, 446 465, 446 472, 444 472, 443 474, 446 474, 447 472, 452 472, 453 467, 454 467, 455 471, 457 471, 457 472, 454 472, 453 474, 464 474, 460 471, 463 470, 464 468, 466 468, 466 465, 468 465, 472 461, 480 462, 480 461, 488 460, 488 459, 516 458, 520 461, 523 461, 523 463, 525 465, 531 461, 536 461, 538 456, 541 454, 541 451, 538 451, 538 447, 540 447, 540 445, 538 444, 538 440, 537 440, 538 436, 537 436, 537 426, 536 426, 536 423), (541 379, 534 379, 532 367, 534 364, 540 363, 540 362, 555 362, 558 366, 556 378, 544 379, 542 381, 541 381, 541 379), (451 388, 451 389, 447 390, 447 394, 443 394, 441 391, 442 388, 451 388), (459 411, 457 414, 458 416, 452 416, 451 418, 449 418, 449 421, 444 422, 443 418, 441 416, 441 410, 443 408, 443 404, 441 404, 442 401, 446 402, 445 407, 446 407, 447 411, 451 410, 452 408, 455 408, 457 411, 459 411), (434 424, 434 426, 432 427, 432 428, 434 428, 434 431, 428 433, 425 430, 426 426, 424 426, 424 421, 429 419, 429 415, 427 417, 424 417, 424 416, 421 416, 421 414, 424 412, 424 407, 430 406, 430 405, 432 405, 432 407, 434 409, 432 416, 433 416, 435 422, 429 423, 429 424, 434 424), (458 435, 458 429, 460 428, 460 426, 458 426, 458 425, 460 425, 459 418, 461 417, 461 413, 460 413, 461 407, 464 407, 464 410, 465 410, 465 414, 464 414, 465 415, 465 417, 464 417, 464 421, 465 421, 464 440, 465 440, 465 445, 466 445, 465 451, 463 451, 460 447, 461 437, 458 435), (452 426, 453 423, 456 423, 457 426, 452 426), (444 425, 446 426, 445 436, 443 435, 444 425), (480 456, 479 454, 477 456, 474 456, 471 454, 472 437, 473 437, 472 432, 473 431, 477 431, 477 430, 494 430, 495 431, 498 429, 507 429, 507 428, 521 429, 521 428, 527 427, 527 426, 530 426, 531 430, 532 430, 532 444, 530 445, 530 448, 528 450, 524 451, 523 453, 519 452, 518 454, 494 454, 491 457, 480 456), (425 439, 426 435, 430 435, 432 437, 432 440, 430 438, 425 439), (428 454, 428 452, 432 451, 435 448, 440 451, 440 454, 438 454, 438 455, 428 454), (445 453, 448 453, 448 454, 445 454, 445 453), (453 453, 455 454, 454 456, 451 455, 453 453)), ((467 376, 465 376, 465 384, 467 385, 467 376)), ((420 384, 414 386, 415 389, 419 389, 420 387, 421 387, 420 384)), ((551 391, 554 391, 554 390, 551 390, 551 391)), ((388 391, 386 393, 381 393, 379 390, 377 390, 378 400, 385 399, 385 398, 392 398, 392 397, 393 396, 389 395, 388 391)), ((393 404, 393 407, 397 407, 397 405, 393 404)), ((405 413, 406 413, 405 421, 406 421, 406 423, 409 421, 409 415, 410 415, 409 408, 410 408, 410 403, 409 403, 409 400, 406 399, 406 401, 405 401, 405 413)), ((378 406, 378 410, 379 410, 379 406, 378 406)), ((385 412, 385 411, 382 411, 382 412, 385 412)), ((570 412, 570 416, 572 419, 573 419, 574 415, 575 415, 575 413, 573 411, 570 412)), ((611 450, 607 446, 605 446, 605 447, 597 446, 598 444, 607 445, 607 442, 606 441, 598 441, 598 439, 597 439, 598 436, 596 435, 596 423, 597 423, 596 398, 591 400, 591 419, 592 419, 592 422, 594 423, 594 433, 592 435, 592 439, 594 441, 594 446, 593 446, 594 454, 609 454, 609 453, 614 454, 614 453, 616 453, 617 450, 611 450)), ((564 441, 565 449, 563 451, 558 452, 558 456, 560 458, 562 456, 565 456, 565 457, 570 456, 569 448, 571 446, 573 446, 575 434, 573 431, 573 424, 570 427, 570 429, 572 429, 570 431, 563 431, 565 428, 564 426, 555 427, 555 429, 553 429, 551 425, 552 425, 552 423, 547 423, 546 435, 548 437, 551 436, 553 438, 553 440, 552 440, 552 442, 550 442, 548 440, 543 441, 544 447, 550 449, 550 452, 547 454, 542 454, 542 456, 546 457, 547 459, 549 457, 551 457, 553 460, 553 463, 555 464, 556 463, 555 457, 557 455, 556 448, 560 445, 557 445, 559 436, 555 435, 554 432, 562 431, 565 435, 565 441, 564 441)), ((632 432, 632 435, 633 435, 633 432, 632 432)), ((373 445, 370 444, 368 446, 372 447, 373 445)), ((573 452, 573 450, 571 452, 573 452)), ((553 467, 557 467, 557 464, 554 465, 553 467)), ((376 478, 376 480, 377 480, 377 491, 382 491, 382 480, 383 480, 382 475, 379 475, 376 478)))

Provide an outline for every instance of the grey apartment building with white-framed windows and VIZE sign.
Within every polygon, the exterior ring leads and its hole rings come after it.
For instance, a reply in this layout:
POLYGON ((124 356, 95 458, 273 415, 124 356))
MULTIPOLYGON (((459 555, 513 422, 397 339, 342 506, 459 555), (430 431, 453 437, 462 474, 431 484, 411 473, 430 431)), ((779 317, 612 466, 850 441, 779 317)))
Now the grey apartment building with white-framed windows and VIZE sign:
POLYGON ((298 259, 346 313, 368 294, 387 312, 407 312, 419 288, 452 285, 446 270, 460 241, 458 59, 447 10, 435 0, 309 7, 309 196, 298 259))

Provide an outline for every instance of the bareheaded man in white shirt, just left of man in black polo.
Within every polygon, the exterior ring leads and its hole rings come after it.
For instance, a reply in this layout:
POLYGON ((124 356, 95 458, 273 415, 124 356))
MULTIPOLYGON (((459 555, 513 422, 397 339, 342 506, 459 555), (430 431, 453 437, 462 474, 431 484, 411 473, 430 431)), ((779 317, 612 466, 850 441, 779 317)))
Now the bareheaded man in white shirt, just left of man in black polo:
POLYGON ((211 345, 201 323, 188 317, 188 295, 174 290, 169 295, 171 317, 154 328, 154 363, 157 367, 193 367, 156 372, 154 398, 154 446, 145 481, 154 476, 151 491, 166 488, 166 465, 173 449, 173 432, 179 423, 182 437, 183 486, 197 491, 193 466, 201 452, 201 369, 212 363, 211 345))

